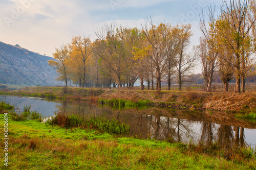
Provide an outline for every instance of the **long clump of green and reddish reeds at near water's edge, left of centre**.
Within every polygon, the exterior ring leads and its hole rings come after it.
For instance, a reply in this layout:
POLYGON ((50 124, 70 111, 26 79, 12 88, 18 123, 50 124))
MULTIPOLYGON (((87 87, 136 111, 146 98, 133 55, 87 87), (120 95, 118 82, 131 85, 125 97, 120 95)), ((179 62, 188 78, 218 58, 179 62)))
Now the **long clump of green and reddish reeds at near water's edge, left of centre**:
POLYGON ((88 115, 65 115, 61 112, 55 113, 52 119, 47 120, 47 124, 54 126, 60 126, 62 128, 82 128, 82 129, 96 129, 100 132, 106 132, 111 134, 125 134, 129 133, 129 125, 120 123, 116 119, 106 119, 101 116, 88 115))

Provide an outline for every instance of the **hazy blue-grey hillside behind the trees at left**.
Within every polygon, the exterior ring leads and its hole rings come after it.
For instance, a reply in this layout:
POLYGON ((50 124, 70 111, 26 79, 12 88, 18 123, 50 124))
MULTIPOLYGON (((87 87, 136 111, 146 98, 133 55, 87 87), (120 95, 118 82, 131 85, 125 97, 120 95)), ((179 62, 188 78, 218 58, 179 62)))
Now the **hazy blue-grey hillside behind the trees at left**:
POLYGON ((0 83, 27 86, 56 85, 57 73, 49 66, 48 60, 55 59, 0 41, 0 83))

